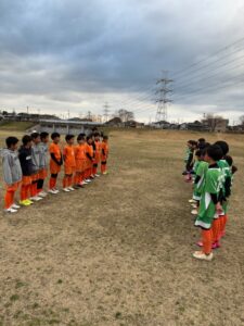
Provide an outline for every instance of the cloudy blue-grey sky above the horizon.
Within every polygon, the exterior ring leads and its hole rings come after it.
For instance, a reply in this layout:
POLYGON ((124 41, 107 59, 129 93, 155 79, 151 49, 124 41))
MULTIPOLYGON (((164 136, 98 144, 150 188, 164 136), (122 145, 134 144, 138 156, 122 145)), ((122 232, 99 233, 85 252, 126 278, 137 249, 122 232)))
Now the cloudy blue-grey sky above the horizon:
POLYGON ((244 1, 0 0, 0 109, 59 116, 133 111, 154 121, 244 114, 244 1))

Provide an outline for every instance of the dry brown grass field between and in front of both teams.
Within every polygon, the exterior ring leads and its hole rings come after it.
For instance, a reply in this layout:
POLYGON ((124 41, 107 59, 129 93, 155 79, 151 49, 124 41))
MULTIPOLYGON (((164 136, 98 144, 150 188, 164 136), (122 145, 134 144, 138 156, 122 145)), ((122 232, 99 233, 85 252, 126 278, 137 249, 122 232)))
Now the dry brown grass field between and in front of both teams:
POLYGON ((227 139, 239 166, 208 263, 192 258, 198 229, 181 176, 185 141, 200 136, 112 130, 108 176, 0 213, 0 325, 244 325, 244 137, 204 135, 227 139))

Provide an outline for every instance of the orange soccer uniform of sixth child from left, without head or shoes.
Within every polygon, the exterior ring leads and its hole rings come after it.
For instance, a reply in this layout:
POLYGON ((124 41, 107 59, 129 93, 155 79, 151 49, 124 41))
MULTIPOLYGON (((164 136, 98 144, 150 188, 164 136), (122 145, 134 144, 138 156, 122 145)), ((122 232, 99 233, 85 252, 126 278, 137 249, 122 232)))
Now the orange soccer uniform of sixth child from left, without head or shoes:
POLYGON ((76 171, 75 147, 73 145, 66 145, 63 151, 64 155, 64 179, 63 187, 70 187, 73 181, 73 174, 76 171))

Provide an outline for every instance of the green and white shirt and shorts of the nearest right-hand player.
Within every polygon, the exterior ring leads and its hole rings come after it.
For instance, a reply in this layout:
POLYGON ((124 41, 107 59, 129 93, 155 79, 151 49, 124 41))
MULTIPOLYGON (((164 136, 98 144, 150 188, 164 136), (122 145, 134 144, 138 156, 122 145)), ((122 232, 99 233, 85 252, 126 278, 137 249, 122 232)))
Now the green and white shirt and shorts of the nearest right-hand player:
POLYGON ((211 200, 211 195, 217 195, 217 197, 219 197, 221 183, 221 168, 217 164, 210 165, 206 173, 205 185, 200 201, 200 210, 195 221, 195 226, 200 226, 205 229, 209 229, 211 227, 211 223, 216 214, 216 208, 211 200))

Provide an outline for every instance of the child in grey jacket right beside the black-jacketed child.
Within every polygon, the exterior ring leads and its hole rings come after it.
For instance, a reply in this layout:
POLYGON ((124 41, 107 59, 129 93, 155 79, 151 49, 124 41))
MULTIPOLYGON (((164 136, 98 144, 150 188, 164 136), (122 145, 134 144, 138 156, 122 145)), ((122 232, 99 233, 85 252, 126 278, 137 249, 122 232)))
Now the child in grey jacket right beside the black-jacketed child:
POLYGON ((40 172, 40 135, 38 133, 31 134, 31 162, 33 162, 33 181, 30 186, 30 200, 31 201, 39 201, 42 198, 38 196, 37 191, 37 183, 39 179, 39 172, 40 172))

